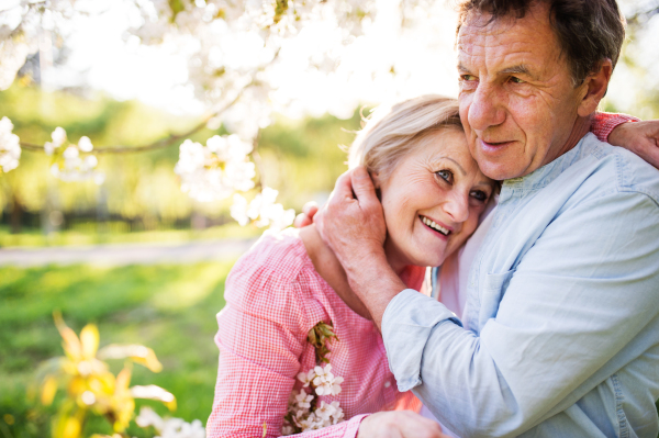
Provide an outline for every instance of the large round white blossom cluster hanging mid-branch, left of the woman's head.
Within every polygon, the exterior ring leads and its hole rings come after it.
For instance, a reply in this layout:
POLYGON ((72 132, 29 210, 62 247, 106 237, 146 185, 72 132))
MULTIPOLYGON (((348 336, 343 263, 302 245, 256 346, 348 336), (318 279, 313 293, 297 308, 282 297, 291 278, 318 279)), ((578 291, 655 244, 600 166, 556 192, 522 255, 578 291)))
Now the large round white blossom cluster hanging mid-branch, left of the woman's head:
POLYGON ((252 144, 237 135, 215 135, 200 143, 187 139, 180 146, 179 160, 174 168, 181 177, 181 190, 200 201, 228 198, 236 190, 254 188, 256 170, 248 155, 252 144))

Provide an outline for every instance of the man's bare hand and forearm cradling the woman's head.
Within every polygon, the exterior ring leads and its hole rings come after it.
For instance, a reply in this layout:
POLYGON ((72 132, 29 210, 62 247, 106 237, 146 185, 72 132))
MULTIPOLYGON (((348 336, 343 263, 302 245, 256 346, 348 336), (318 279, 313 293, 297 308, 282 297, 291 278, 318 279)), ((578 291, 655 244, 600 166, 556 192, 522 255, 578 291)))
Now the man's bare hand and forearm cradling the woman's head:
POLYGON ((344 267, 350 289, 380 327, 387 305, 405 284, 387 261, 384 213, 364 167, 336 180, 330 201, 315 216, 315 224, 344 267))

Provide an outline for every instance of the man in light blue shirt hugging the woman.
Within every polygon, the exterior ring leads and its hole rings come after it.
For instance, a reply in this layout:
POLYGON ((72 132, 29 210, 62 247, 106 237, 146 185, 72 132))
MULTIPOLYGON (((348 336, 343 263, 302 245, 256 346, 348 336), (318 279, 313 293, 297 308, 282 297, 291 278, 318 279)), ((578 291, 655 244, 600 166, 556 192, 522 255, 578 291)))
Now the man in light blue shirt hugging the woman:
POLYGON ((657 437, 659 172, 588 134, 624 38, 614 0, 467 0, 460 115, 503 180, 462 319, 389 268, 365 170, 323 238, 381 327, 401 391, 459 436, 657 437))

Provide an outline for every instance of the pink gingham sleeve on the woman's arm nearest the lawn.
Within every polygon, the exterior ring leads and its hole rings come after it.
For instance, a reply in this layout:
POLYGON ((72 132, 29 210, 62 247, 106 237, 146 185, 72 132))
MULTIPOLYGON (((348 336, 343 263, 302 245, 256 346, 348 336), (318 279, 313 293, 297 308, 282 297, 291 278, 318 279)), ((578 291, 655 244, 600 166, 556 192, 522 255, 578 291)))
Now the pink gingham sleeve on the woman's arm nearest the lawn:
MULTIPOLYGON (((239 261, 227 280, 217 315, 220 366, 208 438, 279 437, 300 371, 309 322, 300 284, 290 276, 239 261)), ((364 416, 312 433, 309 438, 354 438, 364 416)))

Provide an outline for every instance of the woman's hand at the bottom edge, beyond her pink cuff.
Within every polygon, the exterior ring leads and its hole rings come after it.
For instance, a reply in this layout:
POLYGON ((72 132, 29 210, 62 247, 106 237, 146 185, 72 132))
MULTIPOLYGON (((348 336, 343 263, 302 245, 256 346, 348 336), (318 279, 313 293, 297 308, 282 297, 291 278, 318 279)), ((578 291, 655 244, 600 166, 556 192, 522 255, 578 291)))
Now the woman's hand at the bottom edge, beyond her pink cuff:
POLYGON ((364 418, 357 438, 447 438, 432 419, 410 411, 379 412, 364 418))

